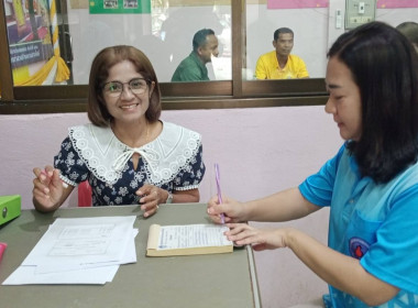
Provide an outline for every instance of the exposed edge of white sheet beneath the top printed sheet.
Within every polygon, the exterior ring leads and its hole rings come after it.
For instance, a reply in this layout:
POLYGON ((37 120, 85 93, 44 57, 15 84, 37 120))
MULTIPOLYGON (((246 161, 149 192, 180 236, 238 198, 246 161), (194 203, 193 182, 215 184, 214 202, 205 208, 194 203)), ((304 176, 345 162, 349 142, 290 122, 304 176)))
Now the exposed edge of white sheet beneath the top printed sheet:
MULTIPOLYGON (((132 229, 132 241, 129 241, 128 250, 122 258, 122 264, 136 262, 134 239, 138 229, 132 229)), ((92 268, 81 268, 61 273, 36 273, 36 266, 19 266, 2 285, 53 285, 53 284, 92 284, 103 285, 113 280, 119 265, 106 265, 92 268)))

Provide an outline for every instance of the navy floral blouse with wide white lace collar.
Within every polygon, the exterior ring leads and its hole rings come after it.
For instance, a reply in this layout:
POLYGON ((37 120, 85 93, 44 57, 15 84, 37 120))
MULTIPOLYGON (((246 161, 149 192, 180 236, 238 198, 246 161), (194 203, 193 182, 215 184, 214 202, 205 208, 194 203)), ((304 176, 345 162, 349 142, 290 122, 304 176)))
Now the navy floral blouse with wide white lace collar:
POLYGON ((85 124, 68 131, 54 166, 68 185, 89 182, 92 206, 138 205, 135 191, 144 184, 189 190, 204 178, 201 136, 183 127, 163 122, 160 136, 136 148, 120 142, 110 128, 85 124), (140 154, 136 169, 133 153, 140 154))

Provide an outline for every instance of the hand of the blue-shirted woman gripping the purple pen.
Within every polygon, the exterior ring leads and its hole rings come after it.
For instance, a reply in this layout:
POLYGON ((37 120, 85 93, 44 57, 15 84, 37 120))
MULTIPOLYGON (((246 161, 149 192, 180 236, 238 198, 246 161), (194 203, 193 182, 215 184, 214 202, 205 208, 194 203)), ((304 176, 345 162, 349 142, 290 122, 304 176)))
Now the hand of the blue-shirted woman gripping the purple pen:
POLYGON ((222 204, 218 201, 218 197, 212 197, 208 202, 207 212, 210 219, 216 223, 221 222, 221 213, 223 213, 224 222, 242 222, 245 221, 244 205, 233 199, 223 198, 222 204))

